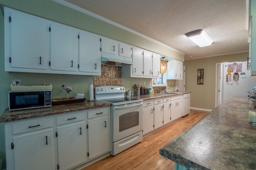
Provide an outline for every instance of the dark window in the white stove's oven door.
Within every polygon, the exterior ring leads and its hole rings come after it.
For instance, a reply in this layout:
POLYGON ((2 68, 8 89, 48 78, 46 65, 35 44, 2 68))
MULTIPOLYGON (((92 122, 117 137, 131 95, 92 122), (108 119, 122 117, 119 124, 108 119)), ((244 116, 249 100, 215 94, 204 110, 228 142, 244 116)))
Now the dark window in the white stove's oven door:
POLYGON ((119 116, 119 132, 139 125, 139 111, 132 111, 119 116))

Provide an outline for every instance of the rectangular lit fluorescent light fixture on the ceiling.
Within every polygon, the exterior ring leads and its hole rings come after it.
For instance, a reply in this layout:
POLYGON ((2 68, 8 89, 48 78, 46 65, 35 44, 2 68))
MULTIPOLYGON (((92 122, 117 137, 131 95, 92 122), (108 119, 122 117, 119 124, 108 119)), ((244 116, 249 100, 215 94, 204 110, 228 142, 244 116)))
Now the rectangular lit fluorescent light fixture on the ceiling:
POLYGON ((199 47, 207 47, 213 43, 212 39, 206 34, 206 32, 204 32, 203 29, 197 29, 195 31, 185 33, 185 35, 199 47))

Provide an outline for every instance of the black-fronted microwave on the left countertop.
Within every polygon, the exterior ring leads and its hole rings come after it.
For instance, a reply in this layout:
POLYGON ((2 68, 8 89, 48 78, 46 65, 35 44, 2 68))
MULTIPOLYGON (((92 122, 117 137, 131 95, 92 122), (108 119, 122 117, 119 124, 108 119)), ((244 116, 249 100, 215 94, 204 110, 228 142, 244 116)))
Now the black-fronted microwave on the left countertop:
POLYGON ((34 109, 52 106, 51 91, 10 91, 8 94, 9 110, 34 109))

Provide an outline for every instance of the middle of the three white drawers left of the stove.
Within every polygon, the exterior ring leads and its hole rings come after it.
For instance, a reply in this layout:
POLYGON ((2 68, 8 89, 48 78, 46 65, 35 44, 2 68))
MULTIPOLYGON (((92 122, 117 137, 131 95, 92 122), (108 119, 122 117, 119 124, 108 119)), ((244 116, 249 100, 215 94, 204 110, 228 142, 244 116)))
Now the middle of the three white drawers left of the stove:
POLYGON ((71 112, 63 116, 58 116, 56 117, 57 125, 84 120, 84 113, 85 113, 84 111, 75 111, 73 113, 71 112))

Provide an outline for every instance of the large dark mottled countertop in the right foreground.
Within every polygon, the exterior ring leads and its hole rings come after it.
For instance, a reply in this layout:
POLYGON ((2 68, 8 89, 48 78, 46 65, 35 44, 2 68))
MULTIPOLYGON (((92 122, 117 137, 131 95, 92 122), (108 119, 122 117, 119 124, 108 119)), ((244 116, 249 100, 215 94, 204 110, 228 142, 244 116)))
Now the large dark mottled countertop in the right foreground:
POLYGON ((190 170, 256 169, 256 110, 248 98, 228 98, 196 125, 160 149, 160 154, 190 170))

